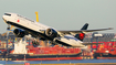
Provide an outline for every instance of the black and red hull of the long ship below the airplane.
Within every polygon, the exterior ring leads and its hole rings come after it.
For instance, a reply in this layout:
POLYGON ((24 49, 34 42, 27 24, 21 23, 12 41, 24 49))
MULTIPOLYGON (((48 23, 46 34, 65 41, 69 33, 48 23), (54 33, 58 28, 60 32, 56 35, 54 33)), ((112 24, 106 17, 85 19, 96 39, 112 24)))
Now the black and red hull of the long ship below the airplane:
POLYGON ((82 59, 82 53, 78 54, 55 54, 55 55, 29 55, 29 54, 9 54, 6 58, 11 58, 12 61, 50 61, 50 59, 82 59))

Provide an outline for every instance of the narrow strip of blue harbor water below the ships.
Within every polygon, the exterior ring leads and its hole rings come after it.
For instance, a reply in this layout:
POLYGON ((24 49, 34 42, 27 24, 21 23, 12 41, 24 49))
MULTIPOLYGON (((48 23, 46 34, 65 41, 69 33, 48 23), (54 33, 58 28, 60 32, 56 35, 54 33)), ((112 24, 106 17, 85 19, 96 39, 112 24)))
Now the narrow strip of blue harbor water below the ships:
POLYGON ((0 64, 73 64, 73 63, 116 63, 116 59, 68 59, 68 61, 0 61, 0 64))

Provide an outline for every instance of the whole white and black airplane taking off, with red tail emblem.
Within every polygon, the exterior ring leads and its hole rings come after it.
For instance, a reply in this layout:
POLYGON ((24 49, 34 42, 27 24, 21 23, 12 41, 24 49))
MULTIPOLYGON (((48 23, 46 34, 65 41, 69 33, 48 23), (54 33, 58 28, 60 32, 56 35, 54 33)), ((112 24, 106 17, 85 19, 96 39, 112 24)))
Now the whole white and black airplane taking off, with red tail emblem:
POLYGON ((72 47, 81 47, 82 50, 86 50, 86 45, 89 44, 98 44, 98 43, 87 43, 83 42, 85 33, 94 32, 94 31, 104 31, 112 30, 108 29, 96 29, 96 30, 87 30, 88 23, 85 23, 81 30, 72 30, 72 31, 59 31, 54 28, 44 25, 40 22, 33 21, 25 17, 22 17, 17 13, 7 12, 2 15, 3 21, 7 24, 14 25, 19 29, 15 29, 13 33, 18 37, 24 37, 28 34, 31 34, 34 37, 40 37, 43 41, 51 41, 52 44, 62 44, 65 46, 72 47))

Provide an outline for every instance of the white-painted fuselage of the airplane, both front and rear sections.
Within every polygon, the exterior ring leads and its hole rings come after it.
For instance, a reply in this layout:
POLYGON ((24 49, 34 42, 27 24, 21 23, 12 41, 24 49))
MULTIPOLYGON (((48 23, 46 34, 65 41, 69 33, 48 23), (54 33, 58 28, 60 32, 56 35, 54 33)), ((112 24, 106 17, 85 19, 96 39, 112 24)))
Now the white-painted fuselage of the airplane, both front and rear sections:
MULTIPOLYGON (((28 29, 28 30, 41 33, 41 31, 43 31, 43 30, 45 31, 46 29, 51 29, 50 26, 46 26, 46 25, 44 25, 40 22, 36 22, 36 21, 32 21, 28 18, 17 14, 17 13, 4 13, 4 15, 2 18, 8 24, 18 26, 23 30, 28 29)), ((31 31, 29 31, 29 32, 31 32, 31 31)), ((82 41, 80 41, 76 37, 71 36, 71 35, 64 35, 64 36, 60 36, 56 39, 61 42, 64 42, 65 44, 74 46, 74 47, 85 47, 85 45, 82 44, 83 43, 82 41)))

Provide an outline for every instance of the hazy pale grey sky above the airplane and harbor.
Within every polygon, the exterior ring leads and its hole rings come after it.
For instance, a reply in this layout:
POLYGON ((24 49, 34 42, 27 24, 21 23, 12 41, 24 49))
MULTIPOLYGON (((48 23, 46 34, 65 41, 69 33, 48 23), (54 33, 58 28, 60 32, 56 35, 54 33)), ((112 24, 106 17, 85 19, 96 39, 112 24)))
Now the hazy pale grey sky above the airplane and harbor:
POLYGON ((56 30, 114 28, 105 33, 116 33, 116 0, 0 0, 0 33, 7 31, 2 20, 4 12, 14 12, 56 30))

